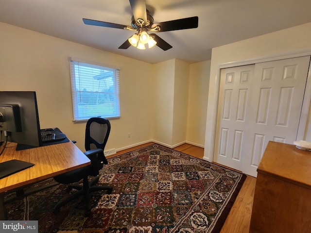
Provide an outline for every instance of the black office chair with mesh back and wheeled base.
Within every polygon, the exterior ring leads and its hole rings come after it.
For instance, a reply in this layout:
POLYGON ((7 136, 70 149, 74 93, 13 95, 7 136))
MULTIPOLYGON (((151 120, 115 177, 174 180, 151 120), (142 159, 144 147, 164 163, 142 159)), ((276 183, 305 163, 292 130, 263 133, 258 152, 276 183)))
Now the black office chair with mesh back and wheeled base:
POLYGON ((107 143, 110 133, 110 122, 107 119, 100 117, 92 117, 86 123, 86 138, 85 138, 85 155, 91 160, 89 166, 81 167, 73 171, 54 177, 58 183, 69 184, 75 183, 83 179, 82 185, 69 185, 67 190, 72 188, 77 189, 68 199, 59 202, 53 213, 58 214, 60 207, 67 204, 69 201, 84 195, 86 200, 86 216, 90 214, 91 204, 89 194, 94 191, 107 190, 110 194, 112 187, 107 186, 93 186, 99 181, 99 170, 103 168, 104 164, 108 164, 104 156, 104 147, 107 143), (91 182, 88 182, 88 176, 96 176, 91 182))

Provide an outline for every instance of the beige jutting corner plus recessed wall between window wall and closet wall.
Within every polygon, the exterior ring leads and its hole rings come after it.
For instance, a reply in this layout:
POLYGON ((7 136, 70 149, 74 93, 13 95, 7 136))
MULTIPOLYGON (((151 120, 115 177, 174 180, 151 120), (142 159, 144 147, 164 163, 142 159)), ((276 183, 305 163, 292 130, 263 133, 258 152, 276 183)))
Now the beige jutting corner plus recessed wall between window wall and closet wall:
POLYGON ((153 67, 152 138, 168 147, 204 147, 210 60, 172 59, 153 67))

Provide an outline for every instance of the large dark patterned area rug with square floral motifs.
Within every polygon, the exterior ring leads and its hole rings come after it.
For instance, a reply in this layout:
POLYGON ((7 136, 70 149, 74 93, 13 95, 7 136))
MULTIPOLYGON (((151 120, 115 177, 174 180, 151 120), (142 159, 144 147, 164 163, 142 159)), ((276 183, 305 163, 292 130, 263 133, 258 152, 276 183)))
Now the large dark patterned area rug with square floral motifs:
MULTIPOLYGON (((158 144, 108 159, 99 184, 111 194, 54 206, 70 193, 60 184, 6 204, 11 220, 38 220, 40 233, 217 233, 246 175, 158 144)), ((41 183, 46 185, 52 180, 41 183)))

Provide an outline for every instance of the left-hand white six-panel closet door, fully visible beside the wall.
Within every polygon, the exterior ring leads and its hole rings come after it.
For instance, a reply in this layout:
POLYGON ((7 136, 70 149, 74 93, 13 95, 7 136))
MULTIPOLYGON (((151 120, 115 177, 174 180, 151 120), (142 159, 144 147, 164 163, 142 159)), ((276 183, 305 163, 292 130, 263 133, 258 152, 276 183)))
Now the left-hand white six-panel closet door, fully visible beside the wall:
POLYGON ((214 162, 242 171, 255 65, 221 70, 214 162))

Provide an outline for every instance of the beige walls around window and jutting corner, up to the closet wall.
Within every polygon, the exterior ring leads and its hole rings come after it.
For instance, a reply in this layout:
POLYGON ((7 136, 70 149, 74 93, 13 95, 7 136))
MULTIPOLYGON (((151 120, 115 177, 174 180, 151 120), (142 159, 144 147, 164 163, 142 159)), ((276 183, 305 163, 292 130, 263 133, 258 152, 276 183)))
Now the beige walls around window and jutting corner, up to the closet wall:
POLYGON ((59 127, 84 150, 85 123, 72 121, 68 59, 74 57, 121 69, 121 118, 110 120, 106 150, 152 140, 171 147, 186 140, 202 146, 205 135, 195 131, 205 129, 201 112, 208 62, 172 59, 153 65, 1 22, 0 32, 0 90, 36 91, 41 128, 59 127))

